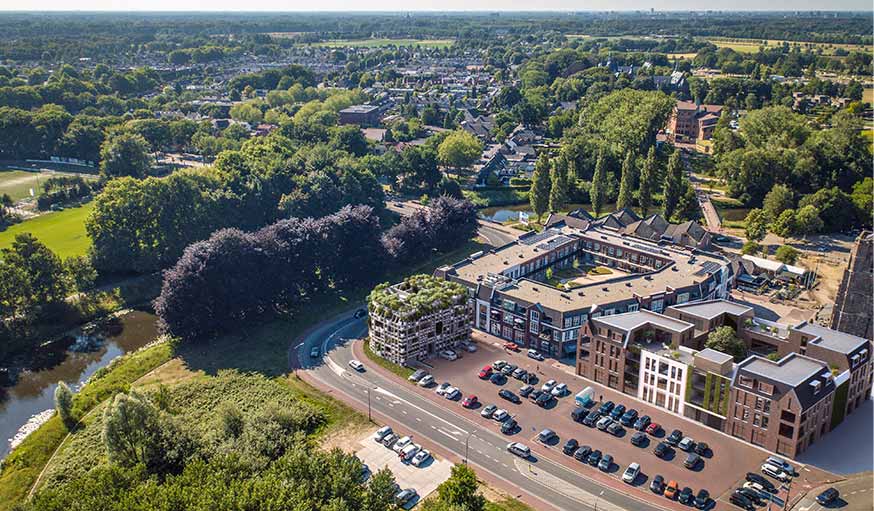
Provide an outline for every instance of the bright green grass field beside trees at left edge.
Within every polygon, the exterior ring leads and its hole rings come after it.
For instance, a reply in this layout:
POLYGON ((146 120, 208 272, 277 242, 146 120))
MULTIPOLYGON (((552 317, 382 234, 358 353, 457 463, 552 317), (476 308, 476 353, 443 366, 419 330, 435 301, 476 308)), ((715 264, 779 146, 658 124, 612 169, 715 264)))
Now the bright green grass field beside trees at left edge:
POLYGON ((85 255, 91 246, 85 233, 85 219, 93 208, 94 203, 89 202, 15 224, 0 232, 0 248, 11 246, 16 235, 29 232, 61 258, 85 255))

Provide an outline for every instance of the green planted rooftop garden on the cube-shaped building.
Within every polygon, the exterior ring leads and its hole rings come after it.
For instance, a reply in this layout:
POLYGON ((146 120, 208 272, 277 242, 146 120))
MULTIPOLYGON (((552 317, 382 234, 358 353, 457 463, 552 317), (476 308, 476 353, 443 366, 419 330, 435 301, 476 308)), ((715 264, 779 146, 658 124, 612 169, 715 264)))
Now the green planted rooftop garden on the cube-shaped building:
POLYGON ((376 286, 367 297, 367 308, 372 314, 415 320, 466 302, 467 289, 461 284, 419 274, 394 286, 388 282, 376 286))

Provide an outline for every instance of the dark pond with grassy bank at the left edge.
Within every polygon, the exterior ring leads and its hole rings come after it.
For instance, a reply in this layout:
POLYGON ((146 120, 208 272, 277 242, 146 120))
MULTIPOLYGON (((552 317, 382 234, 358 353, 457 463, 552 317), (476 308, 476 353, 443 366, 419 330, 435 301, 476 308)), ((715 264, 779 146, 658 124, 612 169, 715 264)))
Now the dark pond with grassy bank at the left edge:
POLYGON ((31 418, 54 408, 58 381, 66 382, 75 391, 115 357, 135 351, 154 340, 158 335, 156 320, 156 316, 149 312, 123 314, 96 333, 76 336, 76 341, 99 340, 97 349, 74 352, 65 348, 51 348, 52 351, 60 351, 45 354, 44 359, 53 360, 45 364, 47 367, 24 371, 15 385, 0 387, 0 438, 5 439, 0 442, 0 459, 9 454, 12 439, 31 418))

